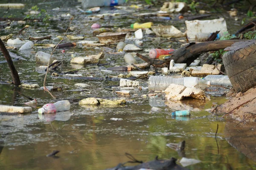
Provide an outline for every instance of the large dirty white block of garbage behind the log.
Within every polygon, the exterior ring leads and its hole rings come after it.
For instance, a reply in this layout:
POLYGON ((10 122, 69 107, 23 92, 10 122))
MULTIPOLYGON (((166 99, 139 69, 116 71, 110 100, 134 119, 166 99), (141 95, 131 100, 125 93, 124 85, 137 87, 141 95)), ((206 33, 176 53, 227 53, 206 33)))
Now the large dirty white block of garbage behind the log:
POLYGON ((185 21, 186 35, 189 42, 195 42, 195 36, 200 34, 210 34, 220 31, 219 34, 227 31, 227 24, 224 18, 215 20, 193 20, 185 21))

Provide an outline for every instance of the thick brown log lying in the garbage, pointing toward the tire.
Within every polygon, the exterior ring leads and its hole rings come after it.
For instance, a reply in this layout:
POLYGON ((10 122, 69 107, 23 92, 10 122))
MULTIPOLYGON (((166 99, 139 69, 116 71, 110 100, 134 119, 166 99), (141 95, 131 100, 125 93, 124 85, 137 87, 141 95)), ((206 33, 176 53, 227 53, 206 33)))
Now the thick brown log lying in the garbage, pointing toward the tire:
POLYGON ((165 57, 164 62, 169 65, 171 59, 173 59, 175 63, 186 63, 187 65, 190 65, 200 56, 201 53, 221 50, 239 41, 244 40, 219 40, 201 43, 191 42, 175 51, 172 51, 172 56, 165 57))

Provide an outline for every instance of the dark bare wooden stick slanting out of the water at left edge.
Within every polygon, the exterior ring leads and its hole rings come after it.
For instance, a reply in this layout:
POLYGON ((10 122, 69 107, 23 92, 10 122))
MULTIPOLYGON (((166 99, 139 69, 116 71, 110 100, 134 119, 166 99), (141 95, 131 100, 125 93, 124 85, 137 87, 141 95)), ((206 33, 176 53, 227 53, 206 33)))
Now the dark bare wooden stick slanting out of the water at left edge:
POLYGON ((3 56, 5 57, 8 65, 9 65, 9 68, 11 70, 11 73, 12 73, 12 83, 15 86, 20 85, 20 77, 18 75, 18 72, 15 69, 15 66, 13 65, 13 62, 12 62, 12 58, 11 58, 9 52, 7 51, 3 41, 1 39, 0 39, 0 49, 3 52, 3 56))

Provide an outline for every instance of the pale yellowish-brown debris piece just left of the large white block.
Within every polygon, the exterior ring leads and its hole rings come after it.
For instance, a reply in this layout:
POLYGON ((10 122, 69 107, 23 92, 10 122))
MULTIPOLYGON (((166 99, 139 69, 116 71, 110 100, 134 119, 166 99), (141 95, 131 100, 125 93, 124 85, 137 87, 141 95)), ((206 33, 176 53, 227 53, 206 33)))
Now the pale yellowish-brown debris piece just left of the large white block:
POLYGON ((157 36, 160 37, 184 37, 186 33, 181 32, 175 26, 152 26, 152 30, 157 36))

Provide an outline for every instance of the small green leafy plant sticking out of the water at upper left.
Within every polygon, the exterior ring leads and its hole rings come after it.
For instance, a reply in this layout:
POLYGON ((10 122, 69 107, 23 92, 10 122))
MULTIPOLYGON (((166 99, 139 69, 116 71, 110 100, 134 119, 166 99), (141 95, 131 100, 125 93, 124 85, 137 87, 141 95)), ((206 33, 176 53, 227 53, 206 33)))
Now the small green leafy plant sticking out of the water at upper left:
POLYGON ((26 17, 24 18, 24 20, 25 19, 32 19, 32 20, 41 19, 42 17, 44 17, 43 22, 47 23, 47 22, 49 22, 49 19, 52 17, 51 15, 47 14, 45 9, 41 9, 39 11, 38 6, 32 6, 31 9, 33 11, 35 11, 35 14, 27 14, 26 17))

